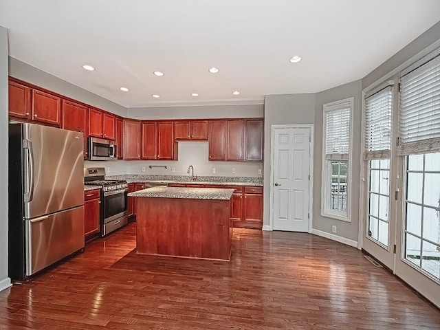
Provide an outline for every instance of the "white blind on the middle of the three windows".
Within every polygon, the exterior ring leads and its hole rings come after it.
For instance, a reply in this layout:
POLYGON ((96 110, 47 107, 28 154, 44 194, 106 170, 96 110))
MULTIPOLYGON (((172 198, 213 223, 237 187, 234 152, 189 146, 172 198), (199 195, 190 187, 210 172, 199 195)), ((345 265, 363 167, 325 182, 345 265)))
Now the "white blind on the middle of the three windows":
POLYGON ((391 110, 393 87, 388 86, 365 99, 364 159, 391 157, 391 110))

